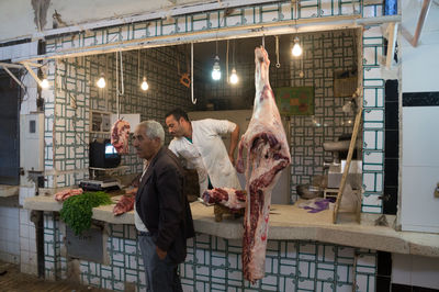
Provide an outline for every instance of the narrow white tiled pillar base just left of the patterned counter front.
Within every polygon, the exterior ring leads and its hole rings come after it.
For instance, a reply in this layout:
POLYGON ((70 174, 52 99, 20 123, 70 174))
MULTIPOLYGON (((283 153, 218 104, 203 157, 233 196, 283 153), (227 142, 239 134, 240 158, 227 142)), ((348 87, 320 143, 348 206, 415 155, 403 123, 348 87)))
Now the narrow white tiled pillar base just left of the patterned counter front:
MULTIPOLYGON (((20 188, 20 204, 25 198, 34 196, 34 188, 20 188)), ((35 225, 30 221, 31 211, 20 209, 20 270, 37 274, 35 225)))

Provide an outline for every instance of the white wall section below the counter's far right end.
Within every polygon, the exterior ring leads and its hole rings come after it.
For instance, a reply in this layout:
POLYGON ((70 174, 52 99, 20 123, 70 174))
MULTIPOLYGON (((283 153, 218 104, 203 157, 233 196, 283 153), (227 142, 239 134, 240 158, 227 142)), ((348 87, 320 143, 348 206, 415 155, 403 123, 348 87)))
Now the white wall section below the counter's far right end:
POLYGON ((439 289, 439 260, 437 258, 392 254, 392 282, 439 289))

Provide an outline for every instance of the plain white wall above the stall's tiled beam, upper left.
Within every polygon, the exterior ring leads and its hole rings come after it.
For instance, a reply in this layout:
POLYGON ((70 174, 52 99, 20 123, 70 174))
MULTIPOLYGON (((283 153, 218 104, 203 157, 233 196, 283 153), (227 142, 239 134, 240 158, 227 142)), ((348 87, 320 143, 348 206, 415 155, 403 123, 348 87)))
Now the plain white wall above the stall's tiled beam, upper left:
MULTIPOLYGON (((180 0, 177 5, 202 2, 200 0, 180 0)), ((204 1, 205 2, 205 1, 204 1)), ((53 14, 55 10, 61 15, 61 20, 68 25, 92 22, 97 20, 117 18, 130 14, 155 12, 159 9, 172 8, 169 0, 52 0, 47 10, 44 31, 53 27, 53 14)), ((34 9, 31 0, 1 0, 0 1, 0 42, 14 38, 30 37, 37 32, 34 22, 34 9)))

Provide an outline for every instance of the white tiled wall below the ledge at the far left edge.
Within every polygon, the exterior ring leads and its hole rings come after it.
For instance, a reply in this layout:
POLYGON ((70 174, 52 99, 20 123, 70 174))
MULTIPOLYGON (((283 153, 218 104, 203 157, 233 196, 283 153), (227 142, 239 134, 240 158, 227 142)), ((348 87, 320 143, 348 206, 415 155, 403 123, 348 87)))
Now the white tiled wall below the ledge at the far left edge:
POLYGON ((0 260, 19 263, 19 209, 0 206, 0 260))

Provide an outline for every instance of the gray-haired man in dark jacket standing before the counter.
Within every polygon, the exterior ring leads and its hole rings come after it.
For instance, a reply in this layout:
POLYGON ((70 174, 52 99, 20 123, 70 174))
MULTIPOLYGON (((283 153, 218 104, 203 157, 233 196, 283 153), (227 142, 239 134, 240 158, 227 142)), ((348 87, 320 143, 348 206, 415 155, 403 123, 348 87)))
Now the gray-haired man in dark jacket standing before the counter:
POLYGON ((184 173, 164 146, 165 131, 156 121, 137 125, 133 146, 147 160, 135 202, 135 225, 144 258, 148 291, 182 291, 178 263, 194 236, 192 214, 183 195, 184 173))

